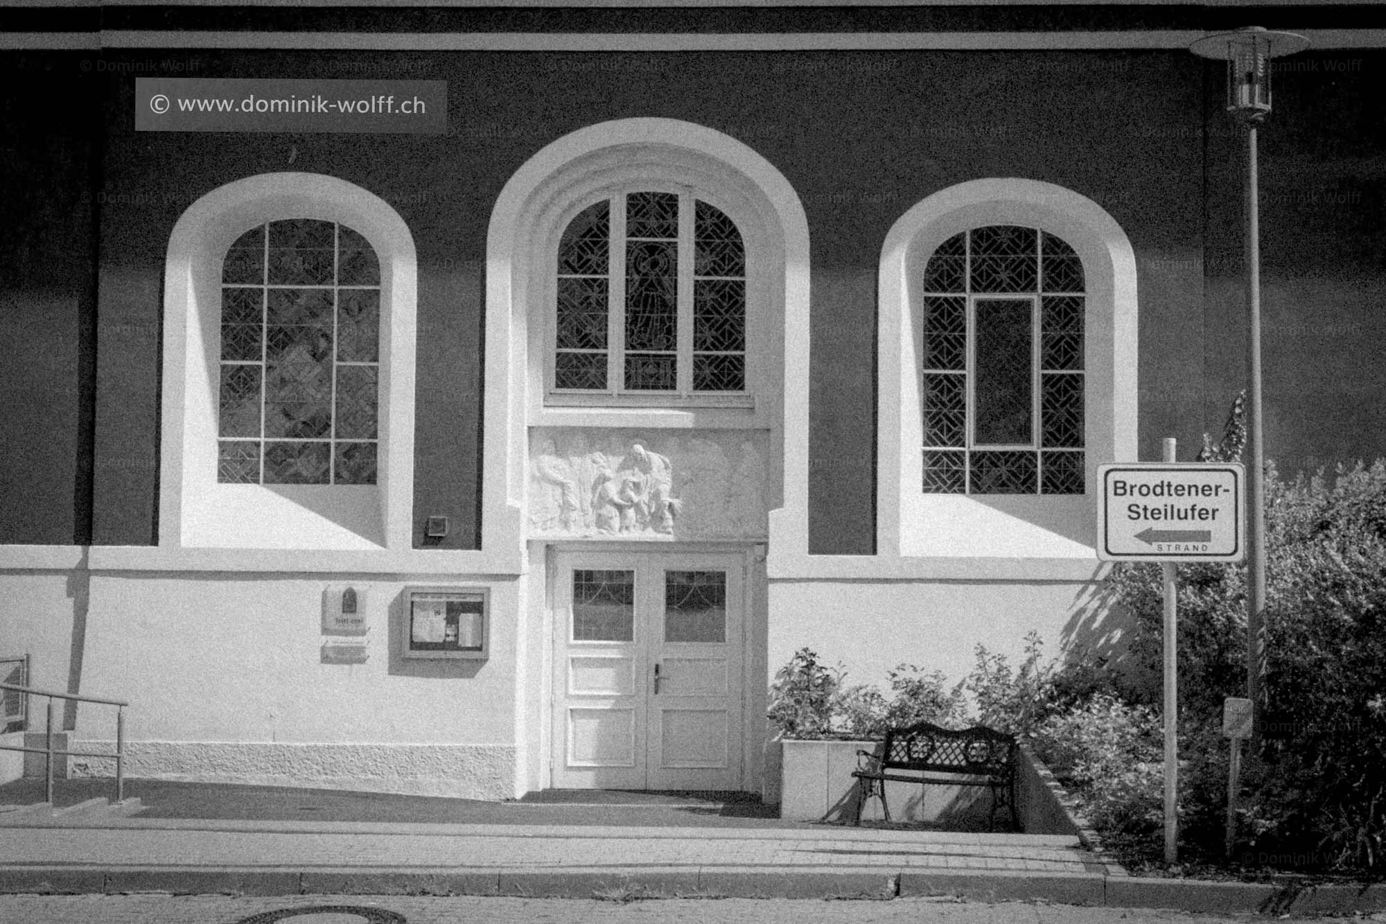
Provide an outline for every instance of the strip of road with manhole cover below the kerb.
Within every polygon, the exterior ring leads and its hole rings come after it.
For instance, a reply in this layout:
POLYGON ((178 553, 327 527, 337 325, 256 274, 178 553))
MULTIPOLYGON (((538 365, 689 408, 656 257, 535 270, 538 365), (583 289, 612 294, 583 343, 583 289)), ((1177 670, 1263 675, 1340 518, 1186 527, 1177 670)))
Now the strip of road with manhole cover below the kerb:
MULTIPOLYGON (((424 898, 302 895, 0 895, 0 924, 452 924, 462 921, 826 924, 1128 924, 1264 921, 1254 914, 1186 914, 1149 909, 958 902, 955 899, 651 899, 424 898), (316 909, 316 910, 315 910, 316 909)), ((1315 920, 1315 918, 1277 918, 1315 920)), ((1386 913, 1368 921, 1386 921, 1386 913)))

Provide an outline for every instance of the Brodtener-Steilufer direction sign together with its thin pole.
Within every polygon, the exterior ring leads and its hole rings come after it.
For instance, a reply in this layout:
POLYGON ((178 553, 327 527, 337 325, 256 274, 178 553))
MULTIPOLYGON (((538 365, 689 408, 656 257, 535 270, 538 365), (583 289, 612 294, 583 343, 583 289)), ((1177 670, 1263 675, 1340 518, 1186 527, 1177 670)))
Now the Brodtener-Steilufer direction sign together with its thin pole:
POLYGON ((1245 470, 1232 463, 1178 463, 1164 440, 1164 462, 1098 466, 1098 558, 1160 562, 1164 588, 1164 860, 1178 862, 1178 562, 1239 562, 1245 470))

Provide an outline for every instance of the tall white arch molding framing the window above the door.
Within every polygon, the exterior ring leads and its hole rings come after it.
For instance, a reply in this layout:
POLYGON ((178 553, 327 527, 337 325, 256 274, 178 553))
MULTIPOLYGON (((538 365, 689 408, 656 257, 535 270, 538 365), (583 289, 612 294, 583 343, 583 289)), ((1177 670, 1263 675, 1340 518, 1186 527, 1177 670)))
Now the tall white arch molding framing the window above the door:
MULTIPOLYGON (((753 309, 748 304, 748 315, 753 309)), ((500 191, 486 234, 485 376, 485 441, 506 447, 484 461, 484 522, 498 524, 492 538, 500 544, 492 551, 524 554, 527 427, 539 425, 766 429, 779 450, 768 465, 766 501, 779 508, 771 513, 771 547, 807 549, 808 219, 789 180, 736 139, 678 119, 633 118, 579 129, 531 157, 500 191), (547 257, 595 196, 640 182, 699 190, 737 222, 748 259, 768 268, 758 296, 748 296, 761 309, 750 323, 760 325, 766 359, 748 372, 751 412, 545 404, 547 257)), ((484 533, 484 547, 486 541, 484 533)))

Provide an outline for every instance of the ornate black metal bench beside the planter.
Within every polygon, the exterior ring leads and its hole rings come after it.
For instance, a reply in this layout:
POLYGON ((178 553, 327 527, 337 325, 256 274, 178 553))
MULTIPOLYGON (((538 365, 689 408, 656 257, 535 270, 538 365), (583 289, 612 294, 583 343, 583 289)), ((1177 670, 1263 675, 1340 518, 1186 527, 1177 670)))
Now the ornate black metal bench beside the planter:
POLYGON ((919 782, 923 785, 987 787, 991 789, 991 813, 987 819, 997 827, 997 809, 1010 809, 1016 817, 1016 739, 995 728, 973 726, 954 730, 920 721, 904 728, 890 728, 880 752, 858 751, 857 777, 859 789, 857 820, 862 821, 862 806, 873 795, 890 821, 886 802, 886 781, 919 782), (947 776, 938 776, 947 774, 947 776))

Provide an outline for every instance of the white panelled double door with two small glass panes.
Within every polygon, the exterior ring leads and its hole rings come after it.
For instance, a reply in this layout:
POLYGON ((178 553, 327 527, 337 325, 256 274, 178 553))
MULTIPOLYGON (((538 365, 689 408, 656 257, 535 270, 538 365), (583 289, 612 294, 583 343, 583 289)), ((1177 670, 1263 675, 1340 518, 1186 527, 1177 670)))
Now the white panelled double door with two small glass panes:
POLYGON ((742 558, 567 552, 557 565, 553 785, 739 788, 742 558))

